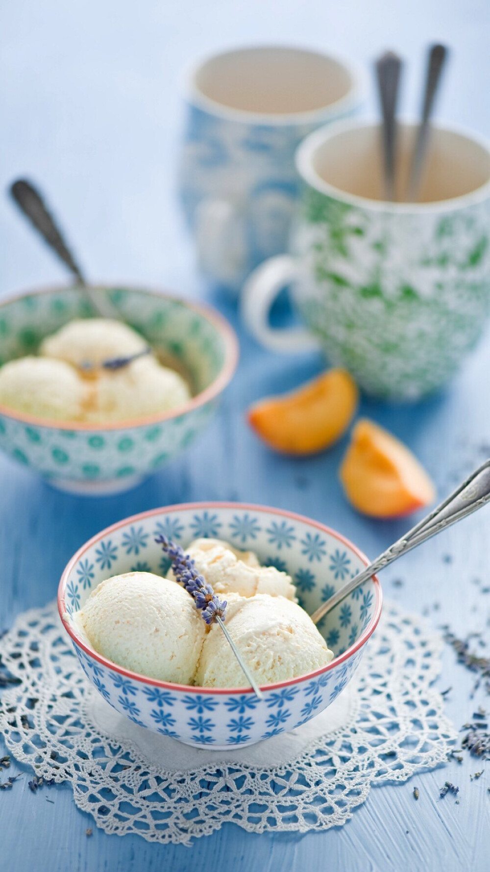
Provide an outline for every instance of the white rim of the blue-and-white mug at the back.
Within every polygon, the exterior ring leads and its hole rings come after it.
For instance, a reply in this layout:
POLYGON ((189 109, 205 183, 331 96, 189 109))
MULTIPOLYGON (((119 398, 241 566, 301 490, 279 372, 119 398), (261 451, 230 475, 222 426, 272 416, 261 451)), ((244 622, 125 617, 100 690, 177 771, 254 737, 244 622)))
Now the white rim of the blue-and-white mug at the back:
POLYGON ((342 55, 337 55, 335 52, 322 51, 313 46, 288 43, 246 43, 232 45, 229 48, 221 49, 220 51, 211 51, 191 62, 184 68, 183 73, 183 92, 187 104, 207 112, 208 115, 227 120, 238 121, 242 124, 256 124, 269 127, 285 127, 285 126, 301 126, 308 124, 316 124, 320 120, 328 123, 329 116, 335 115, 336 118, 353 111, 363 102, 366 93, 366 74, 364 69, 350 58, 344 58, 342 55), (209 61, 216 58, 224 57, 228 54, 237 54, 240 51, 250 51, 253 49, 286 49, 289 51, 299 51, 306 54, 318 55, 328 60, 335 61, 338 65, 344 68, 351 80, 349 91, 333 103, 325 106, 319 106, 317 109, 309 109, 305 112, 250 112, 248 109, 237 109, 234 106, 225 106, 202 93, 195 84, 195 77, 201 68, 208 64, 209 61))

